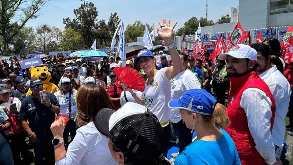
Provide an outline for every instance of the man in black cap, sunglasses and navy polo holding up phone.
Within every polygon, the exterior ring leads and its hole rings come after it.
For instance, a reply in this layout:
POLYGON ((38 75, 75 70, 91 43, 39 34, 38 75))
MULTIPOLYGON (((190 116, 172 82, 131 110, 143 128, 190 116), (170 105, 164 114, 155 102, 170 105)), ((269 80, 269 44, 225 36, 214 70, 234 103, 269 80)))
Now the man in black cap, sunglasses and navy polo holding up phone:
POLYGON ((55 120, 55 113, 60 113, 60 105, 55 95, 49 92, 46 93, 47 99, 41 101, 39 94, 43 90, 41 79, 31 79, 30 90, 32 94, 21 103, 18 119, 22 123, 28 138, 33 143, 34 164, 44 164, 44 153, 46 153, 49 161, 54 162, 53 134, 50 126, 55 120))

